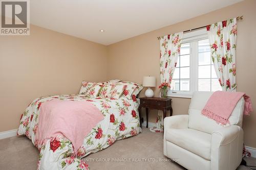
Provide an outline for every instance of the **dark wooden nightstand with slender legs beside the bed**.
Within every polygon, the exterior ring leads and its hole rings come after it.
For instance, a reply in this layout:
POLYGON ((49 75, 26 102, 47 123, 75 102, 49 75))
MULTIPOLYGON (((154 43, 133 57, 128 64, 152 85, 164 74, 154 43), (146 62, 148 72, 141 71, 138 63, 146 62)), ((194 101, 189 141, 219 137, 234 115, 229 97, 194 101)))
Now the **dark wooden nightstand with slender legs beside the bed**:
MULTIPOLYGON (((163 118, 166 117, 167 110, 170 110, 170 116, 173 115, 172 99, 169 98, 140 98, 139 116, 141 118, 141 108, 146 109, 146 128, 148 127, 148 109, 157 109, 163 111, 163 118)), ((140 119, 141 127, 141 119, 140 119)))

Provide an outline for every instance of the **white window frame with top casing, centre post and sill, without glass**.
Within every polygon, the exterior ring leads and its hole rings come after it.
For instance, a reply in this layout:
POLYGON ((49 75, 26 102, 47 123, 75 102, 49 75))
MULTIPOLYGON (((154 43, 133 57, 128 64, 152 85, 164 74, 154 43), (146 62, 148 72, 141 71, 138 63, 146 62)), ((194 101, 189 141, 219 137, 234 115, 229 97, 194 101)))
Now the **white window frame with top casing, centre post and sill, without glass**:
POLYGON ((181 43, 190 43, 189 91, 168 90, 167 96, 191 98, 193 92, 198 91, 198 41, 203 39, 208 39, 206 29, 184 33, 181 43))

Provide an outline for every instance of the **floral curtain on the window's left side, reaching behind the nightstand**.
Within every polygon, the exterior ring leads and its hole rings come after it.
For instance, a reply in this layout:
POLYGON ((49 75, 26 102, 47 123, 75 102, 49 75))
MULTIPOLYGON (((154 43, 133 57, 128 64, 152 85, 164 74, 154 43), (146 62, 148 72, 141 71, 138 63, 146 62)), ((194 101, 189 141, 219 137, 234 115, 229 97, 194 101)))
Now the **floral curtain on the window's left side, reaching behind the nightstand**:
MULTIPOLYGON (((160 81, 161 84, 170 84, 180 54, 180 45, 183 32, 161 37, 160 40, 160 81)), ((156 127, 152 132, 163 132, 163 112, 158 111, 156 127)))

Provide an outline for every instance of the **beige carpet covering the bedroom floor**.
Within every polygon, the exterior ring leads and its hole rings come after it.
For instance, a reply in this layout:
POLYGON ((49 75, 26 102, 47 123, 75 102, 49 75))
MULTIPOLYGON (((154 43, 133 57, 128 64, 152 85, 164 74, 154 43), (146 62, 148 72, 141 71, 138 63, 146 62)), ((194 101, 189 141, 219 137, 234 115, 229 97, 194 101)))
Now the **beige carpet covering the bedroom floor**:
MULTIPOLYGON (((0 169, 36 169, 38 151, 32 142, 24 136, 15 136, 0 140, 0 169)), ((142 133, 127 139, 116 141, 111 147, 90 154, 86 157, 91 170, 93 169, 185 169, 163 156, 163 138, 161 133, 152 133, 143 128, 142 133), (115 162, 114 159, 124 161, 115 162), (127 160, 140 158, 127 162, 127 160), (108 161, 110 159, 111 161, 108 161), (106 162, 108 161, 108 162, 106 162), (137 162, 136 162, 137 161, 137 162)), ((256 165, 255 159, 248 159, 247 164, 256 165)), ((239 170, 247 169, 240 166, 239 170)), ((249 168, 248 168, 249 169, 249 168)))

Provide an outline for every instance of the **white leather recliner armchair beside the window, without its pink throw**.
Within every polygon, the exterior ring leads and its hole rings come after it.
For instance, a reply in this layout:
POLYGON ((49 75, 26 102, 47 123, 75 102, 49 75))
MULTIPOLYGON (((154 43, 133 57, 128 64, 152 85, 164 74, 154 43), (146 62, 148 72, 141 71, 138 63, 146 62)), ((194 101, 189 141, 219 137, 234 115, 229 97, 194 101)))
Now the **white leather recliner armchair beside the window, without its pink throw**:
POLYGON ((244 98, 221 126, 201 115, 212 92, 195 92, 188 115, 164 119, 163 153, 187 169, 234 170, 243 154, 242 118, 244 98))

